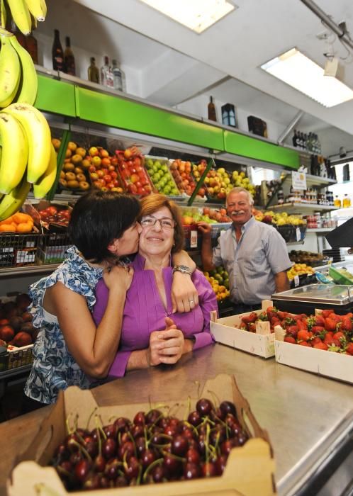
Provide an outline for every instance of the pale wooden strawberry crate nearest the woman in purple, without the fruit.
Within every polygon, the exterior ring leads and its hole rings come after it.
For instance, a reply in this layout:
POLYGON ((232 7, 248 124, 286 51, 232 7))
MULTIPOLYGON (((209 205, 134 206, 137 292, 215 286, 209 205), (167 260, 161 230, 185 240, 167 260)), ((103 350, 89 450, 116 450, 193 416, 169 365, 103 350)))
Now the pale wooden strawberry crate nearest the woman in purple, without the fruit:
MULTIPOLYGON (((259 315, 272 305, 270 300, 262 302, 262 310, 256 310, 259 315)), ((231 315, 217 319, 215 313, 211 312, 211 332, 215 337, 215 341, 222 344, 232 346, 232 348, 247 351, 253 355, 262 356, 264 359, 269 359, 274 356, 274 333, 271 334, 256 334, 243 329, 238 329, 242 317, 250 315, 251 312, 240 313, 239 315, 231 315)))

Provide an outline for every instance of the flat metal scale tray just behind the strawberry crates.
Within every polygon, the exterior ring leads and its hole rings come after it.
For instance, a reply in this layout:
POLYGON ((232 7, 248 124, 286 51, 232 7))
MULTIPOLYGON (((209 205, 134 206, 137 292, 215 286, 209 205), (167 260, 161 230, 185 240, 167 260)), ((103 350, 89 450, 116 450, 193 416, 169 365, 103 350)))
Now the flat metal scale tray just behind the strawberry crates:
POLYGON ((353 302, 353 291, 349 286, 336 284, 309 284, 272 295, 273 300, 303 301, 325 305, 347 305, 353 302))

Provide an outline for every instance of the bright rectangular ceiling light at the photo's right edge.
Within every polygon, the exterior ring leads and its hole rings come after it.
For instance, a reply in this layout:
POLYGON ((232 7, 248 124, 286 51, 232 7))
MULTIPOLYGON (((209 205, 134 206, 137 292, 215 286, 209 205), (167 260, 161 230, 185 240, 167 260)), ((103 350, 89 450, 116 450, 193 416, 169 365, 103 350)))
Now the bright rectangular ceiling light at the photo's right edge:
POLYGON ((325 76, 322 67, 296 48, 275 57, 261 68, 325 107, 333 107, 353 98, 352 89, 335 77, 325 76))

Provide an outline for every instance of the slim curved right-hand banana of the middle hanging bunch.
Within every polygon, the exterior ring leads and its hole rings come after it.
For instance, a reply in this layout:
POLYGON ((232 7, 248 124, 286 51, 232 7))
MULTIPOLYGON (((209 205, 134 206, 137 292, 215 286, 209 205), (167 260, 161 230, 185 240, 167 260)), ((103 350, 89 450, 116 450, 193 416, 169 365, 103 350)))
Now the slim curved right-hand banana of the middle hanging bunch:
POLYGON ((32 57, 30 57, 27 50, 21 47, 16 36, 11 36, 10 41, 17 52, 22 69, 20 90, 16 96, 16 101, 18 103, 29 103, 29 105, 33 105, 35 98, 37 97, 38 77, 37 72, 35 72, 32 57))

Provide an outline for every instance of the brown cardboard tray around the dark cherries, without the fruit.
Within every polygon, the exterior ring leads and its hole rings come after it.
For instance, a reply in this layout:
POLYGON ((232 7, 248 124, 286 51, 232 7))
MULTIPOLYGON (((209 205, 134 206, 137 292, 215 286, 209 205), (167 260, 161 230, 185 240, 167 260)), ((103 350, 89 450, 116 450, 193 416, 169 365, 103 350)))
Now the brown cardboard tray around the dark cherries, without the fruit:
MULTIPOLYGON (((227 374, 209 380, 203 387, 201 395, 195 398, 176 399, 164 402, 166 407, 173 407, 173 415, 184 418, 185 412, 194 409, 198 398, 206 397, 214 401, 235 402, 237 415, 251 439, 244 446, 233 448, 222 476, 201 478, 190 481, 150 484, 119 489, 94 490, 89 495, 103 496, 116 494, 119 496, 159 496, 159 495, 240 495, 271 496, 276 494, 274 485, 274 458, 267 432, 259 427, 250 406, 242 396, 235 383, 235 378, 227 374), (177 410, 176 410, 177 409, 177 410)), ((39 432, 28 450, 18 457, 7 480, 9 496, 79 496, 81 492, 67 492, 54 468, 45 466, 55 448, 65 438, 65 419, 69 415, 79 415, 79 425, 86 426, 91 412, 97 407, 90 390, 79 390, 71 387, 60 392, 55 407, 49 417, 40 426, 39 432)), ((130 419, 139 410, 151 408, 150 403, 99 407, 103 424, 113 416, 130 419)), ((161 405, 158 405, 160 408, 161 405)), ((93 429, 94 415, 91 415, 89 427, 93 429)))

